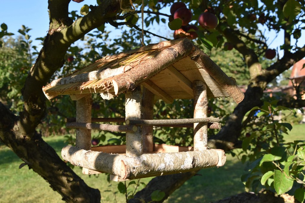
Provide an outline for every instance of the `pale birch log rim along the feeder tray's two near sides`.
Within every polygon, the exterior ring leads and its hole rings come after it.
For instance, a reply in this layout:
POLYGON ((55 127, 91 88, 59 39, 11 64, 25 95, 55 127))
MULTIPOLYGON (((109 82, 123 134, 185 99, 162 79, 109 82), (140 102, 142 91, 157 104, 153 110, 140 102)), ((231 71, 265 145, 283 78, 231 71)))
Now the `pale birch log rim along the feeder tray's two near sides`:
POLYGON ((75 166, 111 173, 118 176, 120 180, 223 166, 226 161, 224 151, 221 149, 142 154, 137 157, 126 157, 66 146, 61 153, 64 160, 75 166))

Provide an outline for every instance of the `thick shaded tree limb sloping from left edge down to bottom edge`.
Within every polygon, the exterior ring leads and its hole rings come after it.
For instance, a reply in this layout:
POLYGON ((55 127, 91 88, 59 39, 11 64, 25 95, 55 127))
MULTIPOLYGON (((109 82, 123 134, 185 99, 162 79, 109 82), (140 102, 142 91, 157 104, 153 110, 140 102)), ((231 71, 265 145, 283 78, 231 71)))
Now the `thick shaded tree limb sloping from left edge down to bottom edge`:
POLYGON ((37 132, 28 136, 23 133, 19 117, 0 103, 0 139, 9 146, 42 178, 57 191, 66 202, 100 202, 99 190, 88 187, 74 171, 66 165, 37 132))

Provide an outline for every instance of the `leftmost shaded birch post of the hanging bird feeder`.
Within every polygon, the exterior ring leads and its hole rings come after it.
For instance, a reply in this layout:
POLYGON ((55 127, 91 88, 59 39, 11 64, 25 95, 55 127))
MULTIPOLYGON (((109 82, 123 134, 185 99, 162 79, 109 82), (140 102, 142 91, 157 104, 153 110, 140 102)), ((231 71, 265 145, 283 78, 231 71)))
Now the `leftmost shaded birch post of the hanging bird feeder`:
MULTIPOLYGON (((91 123, 92 95, 88 94, 76 102, 76 122, 91 123)), ((80 149, 91 149, 91 130, 76 129, 75 146, 80 149)))

